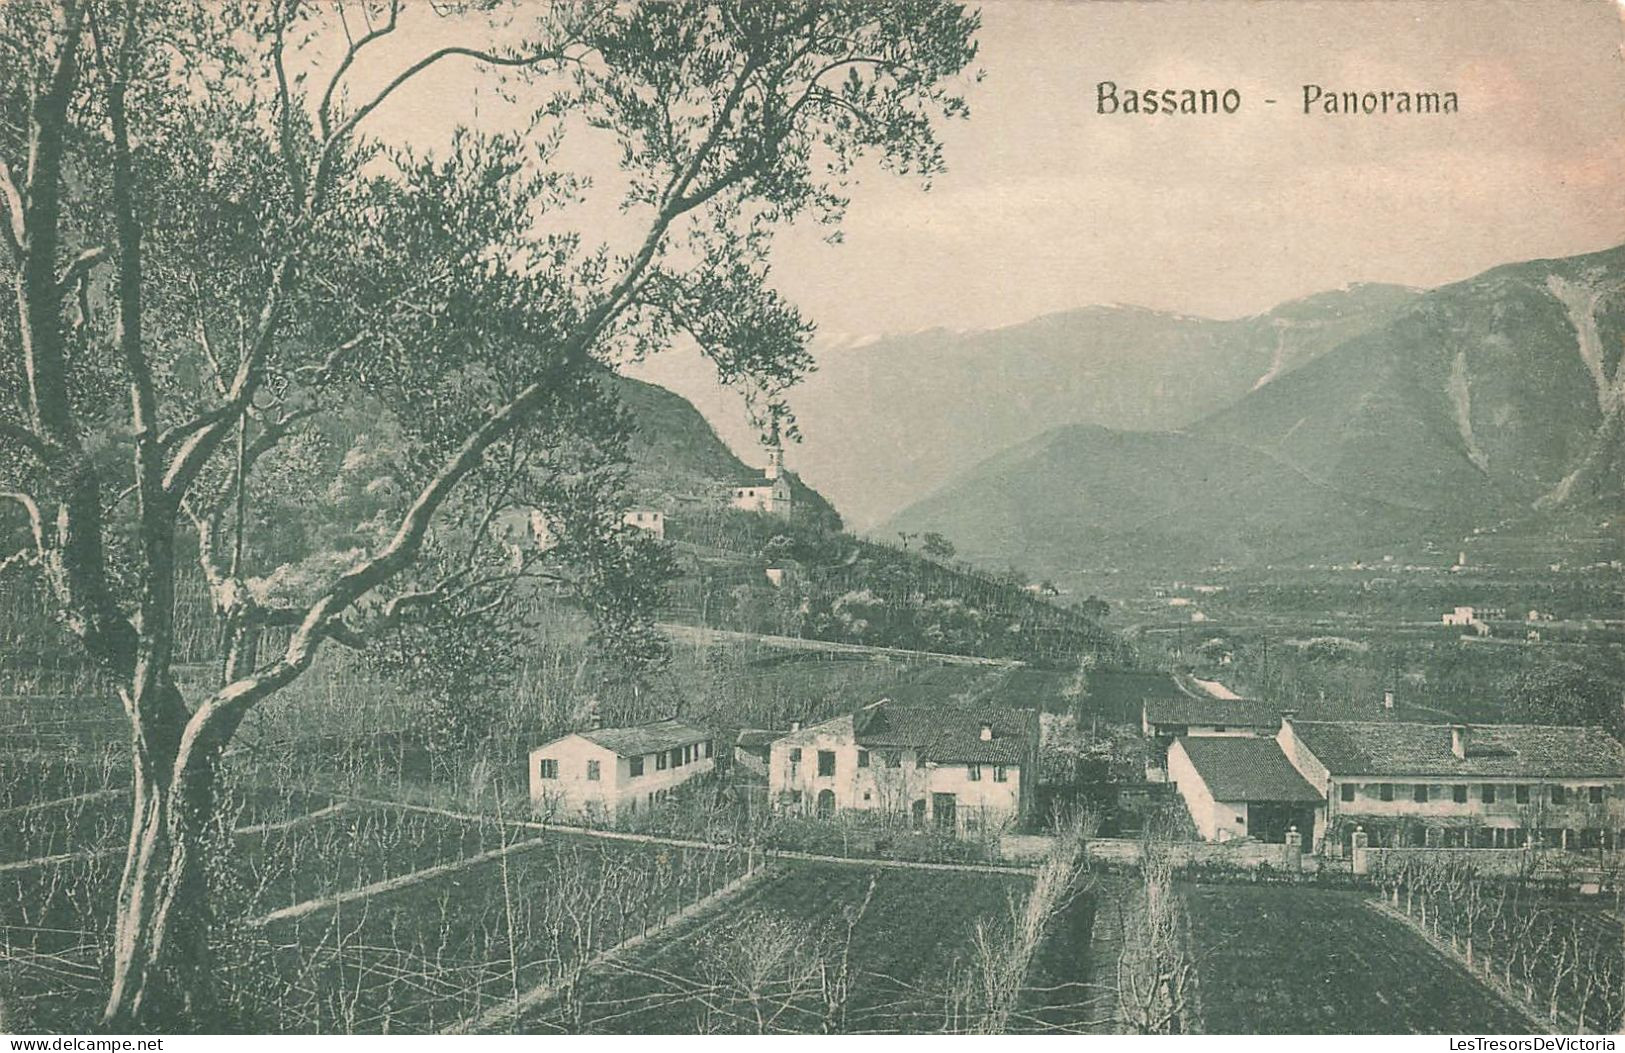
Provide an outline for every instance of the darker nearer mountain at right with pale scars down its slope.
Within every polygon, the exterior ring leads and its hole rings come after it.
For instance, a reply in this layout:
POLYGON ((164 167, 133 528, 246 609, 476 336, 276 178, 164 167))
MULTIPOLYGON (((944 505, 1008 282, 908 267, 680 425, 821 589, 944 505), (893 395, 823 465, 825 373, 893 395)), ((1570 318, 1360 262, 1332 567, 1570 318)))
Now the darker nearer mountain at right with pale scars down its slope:
MULTIPOLYGON (((1064 577, 1360 557, 1622 504, 1625 247, 1415 297, 1180 431, 1061 427, 899 514, 1064 577)), ((1536 526, 1537 530, 1537 526, 1536 526)))

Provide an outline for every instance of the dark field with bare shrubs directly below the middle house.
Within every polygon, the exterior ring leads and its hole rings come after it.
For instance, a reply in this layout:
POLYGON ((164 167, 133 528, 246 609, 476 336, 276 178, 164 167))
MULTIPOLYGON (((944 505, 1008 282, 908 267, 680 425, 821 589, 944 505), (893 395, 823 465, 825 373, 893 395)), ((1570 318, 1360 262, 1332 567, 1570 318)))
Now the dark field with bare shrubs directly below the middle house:
POLYGON ((531 1032, 938 1032, 978 923, 1008 926, 1027 879, 782 863, 723 910, 606 965, 578 1004, 523 1020, 531 1032))

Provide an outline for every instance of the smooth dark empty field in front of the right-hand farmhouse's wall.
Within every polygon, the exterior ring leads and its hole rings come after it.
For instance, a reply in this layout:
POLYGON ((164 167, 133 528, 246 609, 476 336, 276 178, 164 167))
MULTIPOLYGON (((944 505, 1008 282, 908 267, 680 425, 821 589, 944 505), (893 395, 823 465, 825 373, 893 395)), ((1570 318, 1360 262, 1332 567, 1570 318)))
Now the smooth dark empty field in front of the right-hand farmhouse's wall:
POLYGON ((1363 895, 1186 886, 1209 1034, 1528 1034, 1453 960, 1363 895))

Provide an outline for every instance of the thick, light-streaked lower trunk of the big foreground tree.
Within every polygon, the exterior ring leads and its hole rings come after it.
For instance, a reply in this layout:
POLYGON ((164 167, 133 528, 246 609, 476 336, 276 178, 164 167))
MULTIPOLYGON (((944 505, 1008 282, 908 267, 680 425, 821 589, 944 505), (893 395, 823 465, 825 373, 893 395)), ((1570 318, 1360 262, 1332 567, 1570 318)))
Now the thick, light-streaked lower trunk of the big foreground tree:
POLYGON ((221 1030, 211 968, 206 853, 218 748, 176 730, 176 760, 136 749, 133 811, 114 923, 112 986, 102 1024, 115 1030, 221 1030))

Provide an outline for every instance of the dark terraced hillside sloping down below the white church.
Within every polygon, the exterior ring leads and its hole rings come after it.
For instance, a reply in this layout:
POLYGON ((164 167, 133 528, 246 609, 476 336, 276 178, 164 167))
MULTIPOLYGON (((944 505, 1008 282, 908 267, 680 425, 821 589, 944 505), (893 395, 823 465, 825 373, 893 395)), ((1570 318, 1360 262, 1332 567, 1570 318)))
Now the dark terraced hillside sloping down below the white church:
POLYGON ((788 520, 725 507, 728 484, 759 479, 759 470, 682 396, 626 377, 611 384, 637 424, 630 496, 668 514, 679 567, 668 618, 991 658, 1071 661, 1107 647, 1097 622, 1020 580, 843 533, 835 509, 795 473, 788 520))

